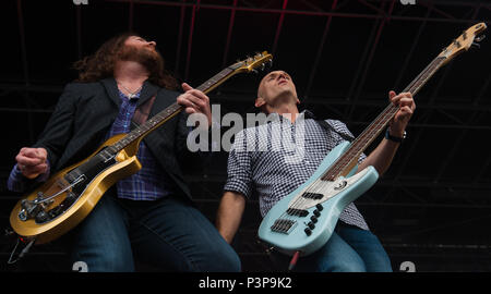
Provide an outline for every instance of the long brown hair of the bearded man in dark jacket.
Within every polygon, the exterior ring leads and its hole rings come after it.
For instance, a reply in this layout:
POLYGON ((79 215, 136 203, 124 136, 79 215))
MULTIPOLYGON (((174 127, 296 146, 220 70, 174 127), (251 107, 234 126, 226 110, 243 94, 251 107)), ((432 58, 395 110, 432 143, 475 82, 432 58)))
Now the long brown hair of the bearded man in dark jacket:
MULTIPOLYGON (((139 35, 134 33, 123 33, 115 36, 104 42, 94 54, 74 62, 73 68, 79 72, 79 77, 75 82, 92 83, 113 76, 115 65, 121 49, 124 47, 124 41, 131 36, 139 35)), ((164 59, 156 64, 155 69, 148 70, 148 82, 167 89, 180 88, 178 81, 165 70, 164 59)))

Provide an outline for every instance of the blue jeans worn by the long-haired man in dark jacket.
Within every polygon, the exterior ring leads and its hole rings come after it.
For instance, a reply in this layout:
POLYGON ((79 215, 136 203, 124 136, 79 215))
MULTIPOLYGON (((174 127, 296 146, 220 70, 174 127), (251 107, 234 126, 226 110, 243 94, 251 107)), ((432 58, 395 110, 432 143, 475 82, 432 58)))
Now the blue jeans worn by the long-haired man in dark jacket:
POLYGON ((88 271, 240 271, 240 259, 194 207, 172 197, 133 201, 105 195, 73 231, 72 262, 88 271))

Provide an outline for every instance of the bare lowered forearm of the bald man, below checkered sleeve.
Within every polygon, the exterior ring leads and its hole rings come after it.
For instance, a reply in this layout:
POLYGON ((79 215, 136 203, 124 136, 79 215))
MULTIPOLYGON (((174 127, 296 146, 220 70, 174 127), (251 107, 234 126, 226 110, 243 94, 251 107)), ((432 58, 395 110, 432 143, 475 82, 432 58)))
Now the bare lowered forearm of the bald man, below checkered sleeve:
POLYGON ((231 243, 242 220, 246 198, 239 193, 226 192, 218 207, 216 228, 221 236, 231 243))

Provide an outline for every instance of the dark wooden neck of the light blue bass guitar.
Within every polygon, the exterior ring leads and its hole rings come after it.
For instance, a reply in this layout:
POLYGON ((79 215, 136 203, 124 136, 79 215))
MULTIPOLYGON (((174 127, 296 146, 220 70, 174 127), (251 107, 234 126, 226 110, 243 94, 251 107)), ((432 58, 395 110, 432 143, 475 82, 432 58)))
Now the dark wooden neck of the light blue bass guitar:
MULTIPOLYGON (((445 58, 438 56, 433 61, 403 90, 415 96, 431 76, 445 63, 445 58)), ((358 158, 368 146, 385 130, 399 107, 390 103, 381 114, 351 143, 322 176, 325 181, 334 181, 339 175, 346 176, 357 164, 358 158)))

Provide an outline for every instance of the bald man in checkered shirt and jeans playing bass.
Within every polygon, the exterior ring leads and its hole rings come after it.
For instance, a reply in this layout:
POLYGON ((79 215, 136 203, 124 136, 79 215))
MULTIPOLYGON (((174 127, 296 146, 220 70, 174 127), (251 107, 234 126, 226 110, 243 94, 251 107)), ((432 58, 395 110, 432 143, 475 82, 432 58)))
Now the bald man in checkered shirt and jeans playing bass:
MULTIPOLYGON (((382 175, 404 138, 405 128, 416 109, 412 95, 396 95, 391 90, 388 98, 399 110, 378 147, 370 155, 360 156, 358 171, 373 166, 382 175)), ((239 229, 248 199, 258 195, 264 217, 278 200, 303 184, 334 147, 346 138, 354 138, 345 123, 325 120, 330 126, 325 127, 309 110, 299 112, 299 103, 296 86, 288 73, 273 71, 262 78, 254 106, 268 115, 267 123, 237 133, 228 157, 228 177, 216 219, 217 229, 228 243, 231 243, 239 229), (275 136, 275 132, 289 133, 275 136), (294 152, 297 154, 297 160, 291 160, 291 150, 272 148, 278 145, 271 142, 256 142, 258 137, 267 140, 288 137, 286 134, 294 133, 303 135, 301 142, 296 142, 297 148, 303 148, 302 152, 294 152), (255 140, 251 142, 250 138, 255 140), (268 146, 270 149, 259 151, 250 148, 251 144, 268 146)), ((271 256, 275 265, 287 269, 289 256, 276 250, 271 256)), ((340 213, 328 242, 314 254, 300 258, 296 270, 363 272, 392 271, 392 267, 379 238, 370 232, 364 218, 351 203, 340 213)))

